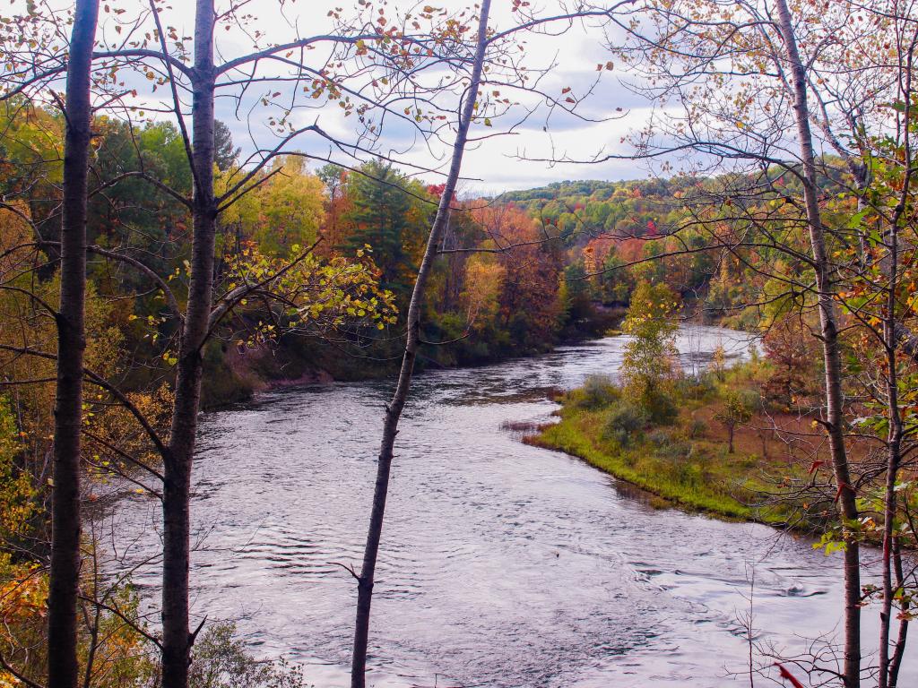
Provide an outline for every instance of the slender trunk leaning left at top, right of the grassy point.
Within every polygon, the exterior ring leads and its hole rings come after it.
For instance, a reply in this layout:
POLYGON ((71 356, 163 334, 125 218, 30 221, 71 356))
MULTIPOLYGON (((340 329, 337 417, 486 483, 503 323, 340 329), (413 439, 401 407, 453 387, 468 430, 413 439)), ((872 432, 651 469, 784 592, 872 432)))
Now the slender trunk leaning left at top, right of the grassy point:
POLYGON ((860 685, 860 548, 849 524, 857 519, 856 494, 851 484, 845 449, 842 393, 842 362, 838 343, 838 318, 834 305, 834 274, 825 243, 823 219, 819 209, 816 159, 810 129, 810 108, 807 103, 806 72, 800 60, 797 39, 790 20, 787 0, 776 0, 778 29, 784 41, 793 90, 794 119, 803 164, 803 200, 810 228, 812 259, 816 271, 820 330, 825 366, 825 427, 835 483, 838 485, 838 510, 845 528, 845 666, 846 688, 860 685))

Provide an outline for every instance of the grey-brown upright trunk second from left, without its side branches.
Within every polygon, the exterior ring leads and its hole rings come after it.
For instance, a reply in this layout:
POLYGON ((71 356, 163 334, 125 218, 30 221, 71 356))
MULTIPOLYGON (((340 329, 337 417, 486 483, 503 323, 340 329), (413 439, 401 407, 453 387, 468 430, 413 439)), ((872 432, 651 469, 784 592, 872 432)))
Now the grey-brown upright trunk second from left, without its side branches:
POLYGON ((213 300, 217 205, 214 199, 213 0, 197 0, 193 80, 194 239, 185 325, 162 490, 162 688, 186 688, 194 638, 189 626, 191 469, 203 372, 202 347, 213 300))

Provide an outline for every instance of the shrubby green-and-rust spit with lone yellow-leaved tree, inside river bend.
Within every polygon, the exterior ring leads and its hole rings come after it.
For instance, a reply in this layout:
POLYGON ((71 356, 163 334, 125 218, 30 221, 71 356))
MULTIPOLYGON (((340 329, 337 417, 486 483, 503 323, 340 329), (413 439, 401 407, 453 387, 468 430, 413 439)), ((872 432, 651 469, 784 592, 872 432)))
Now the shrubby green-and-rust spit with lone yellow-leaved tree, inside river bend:
POLYGON ((776 476, 800 477, 760 393, 769 362, 754 356, 726 368, 720 348, 708 370, 681 372, 677 299, 665 285, 641 283, 622 326, 632 339, 621 383, 589 378, 562 398, 561 421, 527 441, 580 457, 666 503, 730 518, 799 522, 799 501, 761 504, 776 476))

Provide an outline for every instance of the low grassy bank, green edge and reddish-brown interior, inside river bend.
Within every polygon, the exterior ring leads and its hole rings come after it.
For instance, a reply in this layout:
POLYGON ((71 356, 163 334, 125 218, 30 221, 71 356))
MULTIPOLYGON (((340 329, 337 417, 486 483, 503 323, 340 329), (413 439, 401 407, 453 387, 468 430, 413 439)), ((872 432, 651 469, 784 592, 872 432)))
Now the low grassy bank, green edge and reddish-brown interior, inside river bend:
POLYGON ((577 456, 667 505, 774 525, 799 522, 807 505, 774 499, 782 484, 804 473, 780 430, 805 430, 809 420, 763 408, 749 365, 721 378, 709 373, 679 383, 666 423, 650 421, 618 387, 594 378, 562 398, 559 423, 527 441, 577 456), (747 410, 731 416, 737 399, 747 410), (733 423, 733 451, 731 417, 743 418, 733 423))

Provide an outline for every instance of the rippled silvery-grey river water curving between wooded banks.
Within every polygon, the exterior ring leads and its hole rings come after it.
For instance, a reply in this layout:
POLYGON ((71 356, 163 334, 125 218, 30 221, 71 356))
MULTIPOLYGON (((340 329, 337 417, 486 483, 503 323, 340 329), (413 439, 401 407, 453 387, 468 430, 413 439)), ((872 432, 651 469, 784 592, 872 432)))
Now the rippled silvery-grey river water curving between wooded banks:
MULTIPOLYGON (((377 569, 370 685, 749 685, 738 619, 750 593, 756 643, 796 654, 840 634, 838 555, 768 527, 653 508, 502 428, 548 420, 552 388, 614 375, 625 341, 416 379, 377 569)), ((679 339, 689 368, 718 344, 747 350, 713 327, 679 339)), ((201 427, 194 613, 237 619, 257 655, 303 663, 319 688, 347 684, 356 595, 332 562, 359 566, 390 390, 287 389, 201 427)), ((156 549, 159 517, 153 500, 130 497, 122 541, 156 549)), ((153 594, 157 575, 136 580, 153 594)), ((901 685, 918 680, 910 661, 901 685)))

